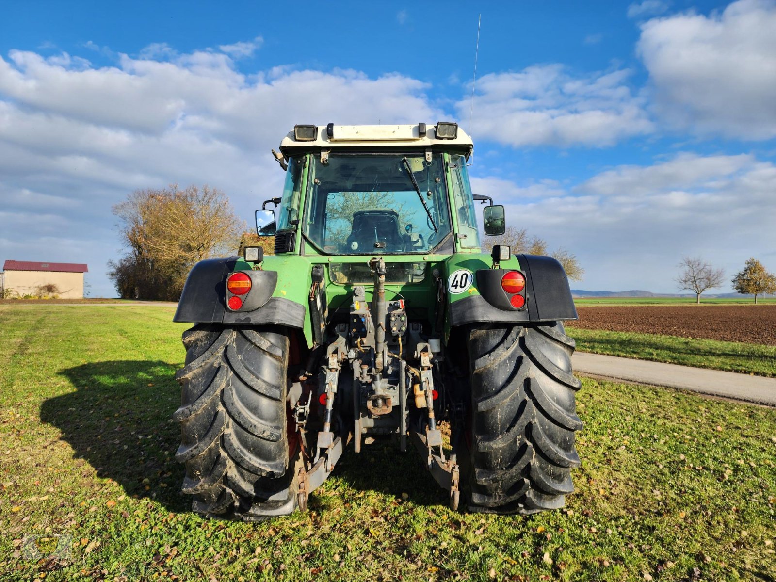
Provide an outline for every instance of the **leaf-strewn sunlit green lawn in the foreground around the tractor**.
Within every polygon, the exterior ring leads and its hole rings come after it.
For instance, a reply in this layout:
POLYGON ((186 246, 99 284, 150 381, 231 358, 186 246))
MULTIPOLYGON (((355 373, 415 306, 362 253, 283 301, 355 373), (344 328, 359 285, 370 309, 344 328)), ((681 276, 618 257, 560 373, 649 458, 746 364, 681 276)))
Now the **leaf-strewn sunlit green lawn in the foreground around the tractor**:
POLYGON ((565 511, 454 513, 386 443, 348 452, 308 513, 203 520, 178 492, 171 314, 0 307, 2 580, 773 579, 776 411, 588 379, 565 511), (54 535, 69 558, 25 559, 54 535))

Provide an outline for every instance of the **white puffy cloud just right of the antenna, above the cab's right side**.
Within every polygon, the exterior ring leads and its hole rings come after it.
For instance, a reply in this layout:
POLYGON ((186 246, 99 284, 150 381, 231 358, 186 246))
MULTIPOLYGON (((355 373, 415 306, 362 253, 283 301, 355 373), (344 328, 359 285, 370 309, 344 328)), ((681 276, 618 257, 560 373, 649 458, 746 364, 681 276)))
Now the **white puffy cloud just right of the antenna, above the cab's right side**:
MULTIPOLYGON (((650 133, 643 102, 626 84, 630 71, 573 76, 559 64, 491 73, 476 81, 470 128, 475 137, 513 147, 611 146, 650 133)), ((458 102, 468 117, 468 100, 458 102)))

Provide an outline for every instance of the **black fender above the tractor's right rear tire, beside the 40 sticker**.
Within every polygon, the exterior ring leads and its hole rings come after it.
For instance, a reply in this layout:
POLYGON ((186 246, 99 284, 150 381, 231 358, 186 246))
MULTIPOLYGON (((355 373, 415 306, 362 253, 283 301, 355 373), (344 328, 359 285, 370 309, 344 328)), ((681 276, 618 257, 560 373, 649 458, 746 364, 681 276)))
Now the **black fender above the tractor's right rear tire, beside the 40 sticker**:
MULTIPOLYGON (((563 265, 552 257, 516 255, 521 271, 525 274, 525 309, 515 310, 503 302, 497 307, 487 300, 493 291, 470 295, 450 304, 450 325, 473 323, 532 323, 577 319, 569 281, 563 265)), ((479 282, 479 278, 478 278, 479 282)), ((498 289, 501 291, 501 289, 498 289)))

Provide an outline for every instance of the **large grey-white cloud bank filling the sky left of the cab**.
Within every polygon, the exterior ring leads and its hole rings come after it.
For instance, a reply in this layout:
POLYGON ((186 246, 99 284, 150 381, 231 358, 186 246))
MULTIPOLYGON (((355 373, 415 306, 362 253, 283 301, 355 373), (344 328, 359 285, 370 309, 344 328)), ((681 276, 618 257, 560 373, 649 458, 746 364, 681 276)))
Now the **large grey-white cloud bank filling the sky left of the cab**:
POLYGON ((251 220, 282 186, 269 150, 294 123, 438 119, 426 89, 359 71, 247 76, 229 54, 164 44, 102 68, 12 51, 0 57, 0 258, 87 262, 110 295, 111 206, 134 189, 209 183, 251 220))

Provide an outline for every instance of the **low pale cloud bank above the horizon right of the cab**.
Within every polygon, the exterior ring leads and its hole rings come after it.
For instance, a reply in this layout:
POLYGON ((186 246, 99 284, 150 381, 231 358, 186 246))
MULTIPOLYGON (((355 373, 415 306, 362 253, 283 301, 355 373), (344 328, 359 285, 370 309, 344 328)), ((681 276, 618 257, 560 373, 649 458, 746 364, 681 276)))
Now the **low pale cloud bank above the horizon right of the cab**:
POLYGON ((776 248, 776 165, 749 154, 677 154, 618 166, 573 188, 553 185, 540 196, 535 186, 473 182, 505 204, 509 223, 576 254, 585 280, 598 287, 591 290, 676 293, 682 255, 703 256, 732 277, 750 256, 776 248))

